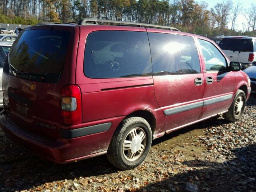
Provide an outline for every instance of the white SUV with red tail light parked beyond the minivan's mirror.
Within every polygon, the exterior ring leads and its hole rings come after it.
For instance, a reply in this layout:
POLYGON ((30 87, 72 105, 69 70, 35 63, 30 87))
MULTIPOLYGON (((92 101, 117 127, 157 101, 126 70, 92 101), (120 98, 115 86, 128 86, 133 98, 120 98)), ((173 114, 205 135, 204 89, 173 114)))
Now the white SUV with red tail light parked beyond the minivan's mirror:
POLYGON ((230 61, 240 62, 242 69, 256 62, 256 37, 228 36, 219 46, 230 61))

